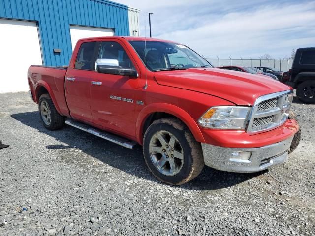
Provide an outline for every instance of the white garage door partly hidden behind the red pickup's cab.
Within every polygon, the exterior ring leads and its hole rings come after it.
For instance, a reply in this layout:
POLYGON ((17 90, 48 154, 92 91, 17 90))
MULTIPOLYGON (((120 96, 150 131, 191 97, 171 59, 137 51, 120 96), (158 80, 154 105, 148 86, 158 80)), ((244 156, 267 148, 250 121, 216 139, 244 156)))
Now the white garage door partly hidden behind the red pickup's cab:
POLYGON ((113 29, 86 26, 70 26, 72 51, 79 39, 91 37, 113 36, 113 29))

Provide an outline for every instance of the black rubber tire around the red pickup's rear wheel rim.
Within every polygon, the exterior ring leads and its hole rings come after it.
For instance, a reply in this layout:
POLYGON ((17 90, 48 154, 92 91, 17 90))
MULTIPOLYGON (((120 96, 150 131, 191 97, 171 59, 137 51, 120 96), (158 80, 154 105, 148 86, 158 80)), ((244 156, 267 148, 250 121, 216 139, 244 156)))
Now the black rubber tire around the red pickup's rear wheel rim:
POLYGON ((63 127, 65 118, 57 112, 56 107, 53 101, 51 100, 51 97, 49 96, 49 94, 43 94, 40 96, 39 102, 38 102, 38 110, 39 110, 40 119, 42 120, 43 125, 45 126, 46 129, 56 130, 63 127), (50 122, 45 122, 42 116, 42 110, 41 110, 42 103, 45 103, 46 106, 48 104, 48 107, 50 109, 50 114, 51 114, 50 122))

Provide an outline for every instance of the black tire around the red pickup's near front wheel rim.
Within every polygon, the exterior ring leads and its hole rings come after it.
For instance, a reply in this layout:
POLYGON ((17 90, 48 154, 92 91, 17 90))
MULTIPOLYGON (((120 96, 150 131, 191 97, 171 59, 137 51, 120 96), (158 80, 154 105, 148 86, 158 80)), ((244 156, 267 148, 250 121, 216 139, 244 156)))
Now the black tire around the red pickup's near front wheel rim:
MULTIPOLYGON (((168 144, 170 143, 169 141, 168 144)), ((166 184, 181 185, 187 183, 197 177, 204 167, 201 144, 194 139, 187 126, 176 118, 159 119, 149 126, 143 139, 143 154, 145 162, 152 174, 166 184), (154 137, 157 137, 157 133, 164 131, 171 133, 177 139, 176 143, 179 145, 178 147, 180 147, 183 156, 183 159, 179 160, 181 162, 181 169, 175 175, 165 175, 161 173, 154 164, 150 154, 150 142, 154 137)), ((162 156, 162 154, 160 155, 162 156)), ((166 154, 164 153, 164 155, 166 154)), ((175 157, 173 159, 175 160, 175 157)), ((176 160, 178 161, 178 159, 176 160)))

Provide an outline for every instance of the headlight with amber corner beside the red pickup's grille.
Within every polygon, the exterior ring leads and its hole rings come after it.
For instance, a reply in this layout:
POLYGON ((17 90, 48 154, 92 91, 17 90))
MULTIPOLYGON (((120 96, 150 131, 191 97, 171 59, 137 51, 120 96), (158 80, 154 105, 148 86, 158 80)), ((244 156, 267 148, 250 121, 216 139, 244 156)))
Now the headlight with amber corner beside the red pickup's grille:
POLYGON ((210 108, 198 123, 211 129, 245 129, 251 107, 219 106, 210 108))

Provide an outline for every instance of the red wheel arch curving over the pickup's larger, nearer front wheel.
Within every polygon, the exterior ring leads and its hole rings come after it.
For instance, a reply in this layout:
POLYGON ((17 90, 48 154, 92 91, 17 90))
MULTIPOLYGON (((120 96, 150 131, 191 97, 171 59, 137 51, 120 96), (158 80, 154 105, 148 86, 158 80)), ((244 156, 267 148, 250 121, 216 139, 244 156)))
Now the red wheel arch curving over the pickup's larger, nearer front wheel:
POLYGON ((153 121, 167 117, 178 118, 189 128, 196 141, 205 142, 195 120, 183 109, 167 103, 150 104, 141 110, 136 121, 137 142, 143 144, 144 133, 153 121))

